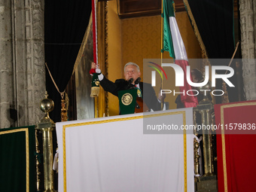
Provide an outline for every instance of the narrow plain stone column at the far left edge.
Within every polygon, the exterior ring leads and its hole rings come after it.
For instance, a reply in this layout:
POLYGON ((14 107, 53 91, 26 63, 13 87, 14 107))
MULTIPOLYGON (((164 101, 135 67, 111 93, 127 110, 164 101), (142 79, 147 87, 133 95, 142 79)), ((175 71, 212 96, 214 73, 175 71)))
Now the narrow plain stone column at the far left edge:
POLYGON ((0 127, 11 125, 14 105, 11 1, 0 0, 0 127))

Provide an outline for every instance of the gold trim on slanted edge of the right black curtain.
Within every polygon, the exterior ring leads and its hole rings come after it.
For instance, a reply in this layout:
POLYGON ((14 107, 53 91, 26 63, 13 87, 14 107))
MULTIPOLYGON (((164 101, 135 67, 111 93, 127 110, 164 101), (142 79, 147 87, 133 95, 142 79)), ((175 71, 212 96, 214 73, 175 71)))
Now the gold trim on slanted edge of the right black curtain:
POLYGON ((200 35, 200 32, 199 32, 199 30, 198 30, 198 28, 197 28, 197 23, 196 23, 196 21, 195 21, 195 19, 194 19, 194 16, 193 16, 193 14, 192 14, 191 9, 190 9, 190 5, 189 5, 189 3, 187 2, 187 0, 184 0, 183 2, 184 2, 185 7, 187 8, 188 17, 190 17, 191 24, 192 24, 193 29, 194 29, 194 33, 195 33, 195 35, 196 35, 196 37, 197 37, 197 40, 198 40, 198 42, 199 42, 199 44, 200 44, 200 47, 201 47, 202 51, 203 51, 203 55, 205 56, 206 59, 208 59, 207 51, 206 51, 206 46, 205 46, 205 44, 203 43, 203 40, 202 40, 201 35, 200 35))

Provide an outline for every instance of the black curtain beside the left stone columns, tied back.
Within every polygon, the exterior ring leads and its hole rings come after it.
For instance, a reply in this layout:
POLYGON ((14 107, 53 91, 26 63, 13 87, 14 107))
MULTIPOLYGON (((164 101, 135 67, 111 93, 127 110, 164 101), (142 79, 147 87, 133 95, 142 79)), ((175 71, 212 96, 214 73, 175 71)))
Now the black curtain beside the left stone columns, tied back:
MULTIPOLYGON (((89 23, 90 12, 91 1, 45 0, 45 62, 60 92, 66 89, 72 76, 75 59, 89 23)), ((46 87, 49 98, 53 99, 55 104, 50 117, 54 122, 59 122, 61 96, 48 72, 46 87)))

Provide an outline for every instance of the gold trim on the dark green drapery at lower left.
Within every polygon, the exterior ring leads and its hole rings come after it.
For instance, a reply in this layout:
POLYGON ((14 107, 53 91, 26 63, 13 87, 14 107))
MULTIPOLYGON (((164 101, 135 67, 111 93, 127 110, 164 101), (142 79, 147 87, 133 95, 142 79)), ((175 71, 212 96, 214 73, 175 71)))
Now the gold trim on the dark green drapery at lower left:
POLYGON ((0 135, 25 131, 26 135, 26 191, 29 192, 29 128, 8 130, 0 132, 0 135))

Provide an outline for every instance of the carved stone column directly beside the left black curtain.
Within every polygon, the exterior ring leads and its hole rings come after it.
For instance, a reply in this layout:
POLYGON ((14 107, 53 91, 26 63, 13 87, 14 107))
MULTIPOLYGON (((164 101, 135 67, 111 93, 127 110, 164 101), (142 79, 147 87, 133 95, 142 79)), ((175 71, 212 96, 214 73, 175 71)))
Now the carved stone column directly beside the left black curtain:
MULTIPOLYGON (((17 1, 16 1, 17 2, 17 1)), ((40 110, 44 98, 44 0, 25 0, 26 21, 26 113, 21 123, 35 124, 44 114, 40 110)), ((25 96, 25 95, 24 95, 25 96)))

